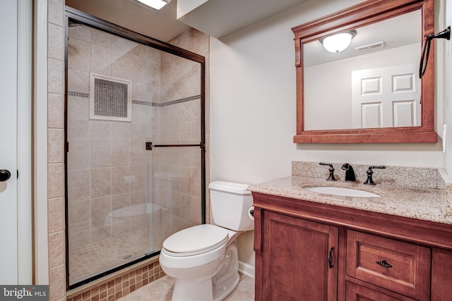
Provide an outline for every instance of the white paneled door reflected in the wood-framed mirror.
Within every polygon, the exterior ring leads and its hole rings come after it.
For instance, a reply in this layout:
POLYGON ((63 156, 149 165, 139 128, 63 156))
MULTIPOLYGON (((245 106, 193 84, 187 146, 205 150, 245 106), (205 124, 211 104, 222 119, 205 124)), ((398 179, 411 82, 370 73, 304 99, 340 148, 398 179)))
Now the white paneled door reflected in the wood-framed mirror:
POLYGON ((417 66, 352 71, 353 128, 420 125, 417 66))

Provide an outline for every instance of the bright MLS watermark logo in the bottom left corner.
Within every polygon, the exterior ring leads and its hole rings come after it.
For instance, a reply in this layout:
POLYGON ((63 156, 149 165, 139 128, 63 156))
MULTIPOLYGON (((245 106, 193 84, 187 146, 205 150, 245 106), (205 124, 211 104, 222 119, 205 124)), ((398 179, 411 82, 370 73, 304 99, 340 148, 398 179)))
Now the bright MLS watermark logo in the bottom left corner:
POLYGON ((0 301, 49 301, 49 285, 0 285, 0 301))

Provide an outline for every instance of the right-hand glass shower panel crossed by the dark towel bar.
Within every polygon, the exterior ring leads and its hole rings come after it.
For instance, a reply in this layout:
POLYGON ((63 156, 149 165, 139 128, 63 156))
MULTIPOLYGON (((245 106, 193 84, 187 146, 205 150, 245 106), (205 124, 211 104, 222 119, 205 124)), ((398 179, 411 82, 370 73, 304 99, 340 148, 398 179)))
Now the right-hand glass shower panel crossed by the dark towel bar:
POLYGON ((203 64, 162 53, 160 102, 153 109, 153 203, 161 219, 153 220, 154 249, 169 235, 205 222, 206 179, 204 104, 201 96, 203 64))

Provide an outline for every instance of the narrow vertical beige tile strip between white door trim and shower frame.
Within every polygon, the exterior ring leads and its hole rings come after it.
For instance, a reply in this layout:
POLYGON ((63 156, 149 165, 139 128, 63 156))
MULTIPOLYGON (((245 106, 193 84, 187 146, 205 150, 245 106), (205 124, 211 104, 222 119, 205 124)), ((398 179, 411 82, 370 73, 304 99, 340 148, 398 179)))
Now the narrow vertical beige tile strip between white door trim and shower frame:
MULTIPOLYGON (((42 18, 45 18, 45 16, 42 16, 42 18)), ((66 300, 63 147, 64 0, 47 1, 47 35, 47 224, 49 241, 49 300, 63 301, 66 300)))

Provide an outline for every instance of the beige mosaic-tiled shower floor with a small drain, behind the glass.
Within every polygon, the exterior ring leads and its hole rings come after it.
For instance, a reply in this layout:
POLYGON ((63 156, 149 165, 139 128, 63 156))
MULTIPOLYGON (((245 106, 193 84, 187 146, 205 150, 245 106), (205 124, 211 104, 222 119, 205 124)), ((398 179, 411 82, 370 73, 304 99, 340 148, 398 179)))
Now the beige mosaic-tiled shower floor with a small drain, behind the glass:
POLYGON ((148 232, 131 231, 73 249, 69 252, 71 284, 143 257, 148 251, 148 232))

